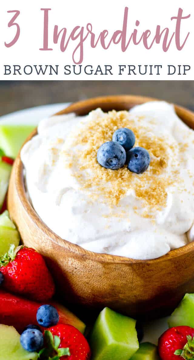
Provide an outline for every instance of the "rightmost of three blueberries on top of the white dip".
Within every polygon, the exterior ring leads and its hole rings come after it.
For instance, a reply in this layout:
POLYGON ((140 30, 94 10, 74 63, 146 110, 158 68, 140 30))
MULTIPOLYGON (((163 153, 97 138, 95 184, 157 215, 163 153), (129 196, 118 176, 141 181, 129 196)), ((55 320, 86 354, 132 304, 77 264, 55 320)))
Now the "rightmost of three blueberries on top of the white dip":
POLYGON ((150 165, 149 152, 141 147, 133 148, 127 152, 127 167, 136 174, 142 174, 150 165))

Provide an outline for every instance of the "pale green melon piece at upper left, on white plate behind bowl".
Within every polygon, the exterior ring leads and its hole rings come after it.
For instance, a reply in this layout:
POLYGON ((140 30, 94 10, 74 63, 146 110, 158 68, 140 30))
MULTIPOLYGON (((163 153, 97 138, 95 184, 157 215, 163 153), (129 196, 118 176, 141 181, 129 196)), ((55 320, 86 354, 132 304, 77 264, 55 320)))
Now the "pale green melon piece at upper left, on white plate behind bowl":
POLYGON ((0 146, 6 156, 16 158, 22 144, 34 129, 34 125, 0 123, 0 146))

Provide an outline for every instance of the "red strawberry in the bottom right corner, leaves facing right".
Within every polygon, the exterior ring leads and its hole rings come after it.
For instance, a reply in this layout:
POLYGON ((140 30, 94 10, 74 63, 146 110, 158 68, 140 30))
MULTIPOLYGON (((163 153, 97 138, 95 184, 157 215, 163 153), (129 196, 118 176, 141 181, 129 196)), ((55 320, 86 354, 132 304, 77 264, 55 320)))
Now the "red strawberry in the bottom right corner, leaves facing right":
POLYGON ((177 326, 166 330, 158 341, 162 360, 194 359, 194 329, 177 326))

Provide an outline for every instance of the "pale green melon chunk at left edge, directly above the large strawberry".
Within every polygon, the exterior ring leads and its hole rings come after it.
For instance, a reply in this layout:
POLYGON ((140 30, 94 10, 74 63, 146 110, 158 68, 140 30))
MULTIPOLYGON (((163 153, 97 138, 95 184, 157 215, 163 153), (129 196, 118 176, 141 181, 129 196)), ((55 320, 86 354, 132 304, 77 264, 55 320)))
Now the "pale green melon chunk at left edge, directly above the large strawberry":
POLYGON ((10 245, 19 245, 19 233, 16 226, 10 220, 8 211, 0 215, 0 256, 8 252, 10 245))

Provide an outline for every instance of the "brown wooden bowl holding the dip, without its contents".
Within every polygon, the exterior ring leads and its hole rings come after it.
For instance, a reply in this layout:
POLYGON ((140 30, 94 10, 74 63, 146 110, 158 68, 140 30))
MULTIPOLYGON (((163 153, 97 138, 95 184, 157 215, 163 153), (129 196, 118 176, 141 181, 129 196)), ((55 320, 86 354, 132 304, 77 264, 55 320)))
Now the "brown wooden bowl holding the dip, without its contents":
MULTIPOLYGON (((72 104, 58 114, 84 115, 97 107, 104 111, 128 110, 150 100, 156 99, 105 96, 72 104)), ((194 113, 179 106, 175 109, 194 129, 194 113)), ((45 256, 60 296, 69 303, 87 306, 88 310, 109 306, 131 316, 156 317, 175 308, 186 292, 194 292, 194 243, 158 259, 141 261, 87 251, 54 234, 26 197, 20 155, 10 179, 8 209, 23 243, 45 256)))

